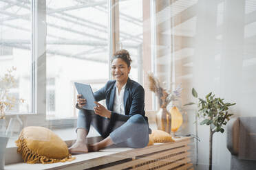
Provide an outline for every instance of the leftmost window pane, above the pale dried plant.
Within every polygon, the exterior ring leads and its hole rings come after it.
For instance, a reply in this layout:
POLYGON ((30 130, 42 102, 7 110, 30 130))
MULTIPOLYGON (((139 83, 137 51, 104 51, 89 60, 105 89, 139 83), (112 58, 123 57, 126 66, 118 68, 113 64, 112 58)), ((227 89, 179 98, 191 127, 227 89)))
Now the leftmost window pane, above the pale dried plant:
POLYGON ((10 113, 32 112, 31 1, 0 2, 0 76, 12 66, 17 86, 9 96, 25 99, 15 104, 10 113))

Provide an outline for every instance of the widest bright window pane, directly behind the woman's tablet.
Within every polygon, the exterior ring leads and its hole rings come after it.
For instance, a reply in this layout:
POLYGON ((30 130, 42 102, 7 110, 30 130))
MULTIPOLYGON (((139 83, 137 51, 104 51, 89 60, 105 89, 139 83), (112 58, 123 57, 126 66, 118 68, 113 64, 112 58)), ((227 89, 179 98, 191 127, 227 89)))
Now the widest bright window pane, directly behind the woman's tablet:
POLYGON ((47 119, 76 117, 74 82, 109 77, 107 0, 46 2, 47 119))

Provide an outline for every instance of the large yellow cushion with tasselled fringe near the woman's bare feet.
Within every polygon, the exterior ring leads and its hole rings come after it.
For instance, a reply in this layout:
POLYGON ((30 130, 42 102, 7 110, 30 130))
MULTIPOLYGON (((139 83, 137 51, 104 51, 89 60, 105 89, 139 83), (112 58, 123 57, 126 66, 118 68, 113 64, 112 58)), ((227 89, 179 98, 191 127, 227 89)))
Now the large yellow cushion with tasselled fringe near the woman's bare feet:
POLYGON ((16 145, 23 161, 27 163, 45 164, 74 160, 68 152, 67 144, 45 127, 25 127, 16 145))

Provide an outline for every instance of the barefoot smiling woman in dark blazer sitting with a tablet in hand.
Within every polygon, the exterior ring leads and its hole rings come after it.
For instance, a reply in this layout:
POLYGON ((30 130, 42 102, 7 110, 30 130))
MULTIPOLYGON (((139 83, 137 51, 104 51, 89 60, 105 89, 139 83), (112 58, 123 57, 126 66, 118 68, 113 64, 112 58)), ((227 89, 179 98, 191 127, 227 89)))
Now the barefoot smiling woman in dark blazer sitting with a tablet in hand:
POLYGON ((133 148, 147 146, 151 130, 145 117, 145 91, 140 84, 129 79, 130 70, 129 52, 125 49, 117 51, 111 60, 111 74, 115 80, 109 80, 94 93, 94 111, 83 109, 86 100, 77 95, 76 108, 80 109, 77 139, 70 147, 70 153, 98 151, 113 144, 133 148), (103 99, 106 99, 107 108, 97 102, 103 99), (103 141, 86 144, 90 125, 103 136, 103 141))

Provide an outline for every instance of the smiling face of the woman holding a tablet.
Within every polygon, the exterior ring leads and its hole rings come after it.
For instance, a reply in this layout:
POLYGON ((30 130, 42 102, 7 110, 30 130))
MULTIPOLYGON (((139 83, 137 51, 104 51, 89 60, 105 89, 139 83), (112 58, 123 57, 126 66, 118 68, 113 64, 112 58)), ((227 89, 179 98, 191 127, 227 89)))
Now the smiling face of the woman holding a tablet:
POLYGON ((121 58, 116 58, 111 63, 111 73, 117 82, 126 83, 131 66, 127 66, 126 62, 121 58))

